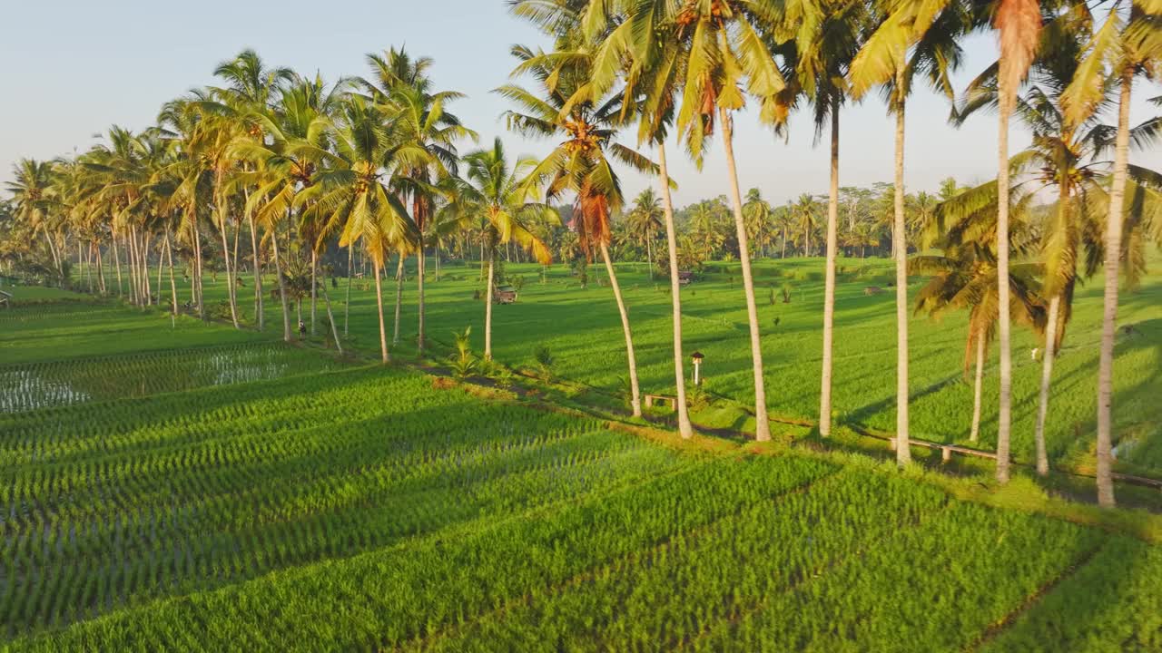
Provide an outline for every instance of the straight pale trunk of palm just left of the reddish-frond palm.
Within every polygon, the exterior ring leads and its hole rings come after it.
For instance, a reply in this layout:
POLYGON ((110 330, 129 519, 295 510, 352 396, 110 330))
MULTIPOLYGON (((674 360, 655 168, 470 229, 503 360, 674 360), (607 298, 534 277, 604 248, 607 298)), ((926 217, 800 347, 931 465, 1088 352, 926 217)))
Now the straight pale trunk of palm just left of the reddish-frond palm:
MULTIPOLYGON (((896 88, 903 88, 903 74, 898 73, 896 88)), ((904 238, 904 100, 896 108, 896 188, 895 234, 892 242, 904 238)), ((908 249, 896 247, 896 462, 899 466, 912 461, 911 440, 908 433, 908 249)))

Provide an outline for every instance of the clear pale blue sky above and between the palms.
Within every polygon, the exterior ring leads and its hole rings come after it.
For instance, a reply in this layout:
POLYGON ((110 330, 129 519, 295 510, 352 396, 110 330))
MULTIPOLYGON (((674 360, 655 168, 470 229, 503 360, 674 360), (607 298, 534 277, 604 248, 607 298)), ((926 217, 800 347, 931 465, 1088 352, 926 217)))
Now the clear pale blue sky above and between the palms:
MULTIPOLYGON (((517 153, 547 151, 504 132, 498 120, 505 103, 489 93, 512 67, 514 43, 537 44, 539 34, 511 17, 503 0, 379 0, 329 2, 281 0, 202 0, 196 3, 145 0, 37 0, 8 2, 0 40, 3 82, 0 95, 0 181, 10 179, 20 157, 51 158, 84 150, 95 132, 116 123, 141 129, 160 105, 191 87, 211 84, 214 66, 244 48, 268 64, 300 72, 320 71, 333 80, 367 72, 364 55, 407 45, 414 55, 436 59, 437 86, 468 94, 454 112, 490 142, 500 134, 517 153)), ((966 44, 960 86, 995 57, 990 35, 966 44)), ((1152 115, 1142 101, 1157 86, 1138 92, 1134 120, 1152 115)), ((948 107, 928 92, 916 95, 908 114, 906 186, 934 189, 954 175, 962 184, 982 181, 996 171, 996 121, 981 115, 961 129, 948 127, 948 107)), ((890 181, 892 122, 877 98, 842 114, 840 182, 890 181)), ((827 150, 813 145, 810 116, 795 116, 788 142, 737 119, 736 152, 744 192, 759 187, 774 202, 803 192, 825 193, 827 150)), ((1013 131, 1012 146, 1027 142, 1013 131)), ((461 146, 471 149, 471 144, 461 146)), ((1162 168, 1162 152, 1136 156, 1162 168)), ((670 166, 680 184, 676 203, 726 192, 722 144, 711 144, 704 168, 672 148, 670 166)), ((648 180, 625 174, 627 194, 648 180)))

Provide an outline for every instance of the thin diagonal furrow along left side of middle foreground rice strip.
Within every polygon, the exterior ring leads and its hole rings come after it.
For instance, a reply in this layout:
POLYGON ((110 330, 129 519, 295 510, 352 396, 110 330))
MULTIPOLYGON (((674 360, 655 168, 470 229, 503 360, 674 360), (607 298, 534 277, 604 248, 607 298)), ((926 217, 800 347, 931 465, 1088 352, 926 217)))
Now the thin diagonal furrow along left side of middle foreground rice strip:
MULTIPOLYGON (((668 546, 670 546, 673 544, 674 539, 677 538, 677 537, 682 537, 683 540, 687 541, 687 543, 689 543, 689 541, 696 541, 701 537, 703 537, 708 531, 715 529, 717 525, 722 524, 723 522, 726 522, 729 519, 733 519, 733 518, 743 515, 744 512, 746 512, 747 510, 749 510, 751 508, 753 508, 753 507, 755 507, 755 505, 758 505, 760 503, 770 502, 770 503, 779 504, 779 503, 781 503, 783 501, 787 501, 791 496, 805 494, 809 490, 811 490, 812 488, 815 488, 816 486, 826 483, 829 481, 832 481, 833 479, 839 478, 839 475, 840 475, 841 472, 842 472, 841 467, 840 468, 835 468, 833 471, 829 471, 825 475, 811 479, 811 480, 806 481, 805 483, 795 486, 792 488, 789 488, 789 489, 787 489, 784 491, 781 491, 779 494, 768 496, 766 498, 760 498, 759 501, 755 501, 753 503, 743 504, 740 508, 738 508, 738 509, 736 509, 736 510, 733 510, 731 512, 723 514, 719 517, 716 517, 716 518, 713 518, 713 519, 711 519, 711 521, 709 521, 709 522, 706 522, 704 524, 698 525, 697 528, 690 529, 688 531, 677 532, 677 533, 674 533, 674 534, 670 534, 670 536, 666 536, 661 540, 654 541, 652 544, 647 544, 647 545, 645 545, 643 547, 639 547, 639 548, 637 548, 634 551, 624 553, 624 554, 618 555, 618 557, 616 557, 614 559, 609 559, 609 560, 605 560, 603 562, 598 562, 596 565, 593 565, 593 566, 586 568, 584 571, 582 571, 582 572, 580 572, 578 574, 574 574, 573 576, 571 576, 568 579, 565 579, 564 581, 561 581, 561 582, 559 582, 559 583, 550 587, 546 590, 545 596, 560 595, 560 594, 564 594, 565 591, 567 591, 569 589, 573 589, 575 587, 580 587, 582 584, 589 583, 594 579, 596 579, 603 571, 607 571, 607 569, 608 571, 612 571, 612 569, 615 569, 617 567, 621 567, 621 566, 623 566, 623 565, 625 565, 627 562, 632 562, 634 560, 645 560, 645 559, 648 559, 654 553, 657 553, 657 552, 659 552, 659 551, 661 551, 661 550, 667 548, 668 546)), ((411 651, 423 651, 423 650, 430 647, 436 641, 438 641, 440 639, 444 639, 444 638, 447 638, 447 637, 450 637, 452 634, 456 634, 457 632, 462 631, 465 629, 468 629, 468 627, 475 625, 476 623, 479 623, 479 622, 481 622, 483 619, 487 619, 487 618, 490 618, 490 617, 501 616, 501 615, 504 615, 505 612, 508 612, 508 611, 510 611, 512 609, 516 609, 516 608, 519 608, 519 607, 524 607, 524 605, 529 605, 532 601, 535 601, 535 598, 536 597, 531 593, 525 593, 525 594, 523 594, 519 597, 515 597, 515 598, 510 598, 510 600, 505 601, 504 605, 502 605, 500 608, 494 608, 492 610, 487 610, 485 612, 476 613, 472 619, 466 620, 464 624, 451 625, 451 626, 442 629, 439 632, 436 632, 436 633, 432 633, 432 634, 417 636, 410 643, 408 643, 404 646, 402 646, 402 648, 403 650, 411 650, 411 651)))

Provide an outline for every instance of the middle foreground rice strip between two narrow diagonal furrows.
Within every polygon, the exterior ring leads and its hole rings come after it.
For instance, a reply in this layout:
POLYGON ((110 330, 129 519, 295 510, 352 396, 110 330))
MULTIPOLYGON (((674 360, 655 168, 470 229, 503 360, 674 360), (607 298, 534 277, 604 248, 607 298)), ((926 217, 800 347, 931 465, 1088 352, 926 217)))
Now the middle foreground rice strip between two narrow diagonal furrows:
POLYGON ((489 641, 516 651, 575 641, 593 651, 674 651, 718 619, 737 618, 835 560, 914 526, 946 502, 934 488, 846 468, 806 491, 743 505, 564 586, 535 588, 525 603, 415 648, 464 651, 489 641))

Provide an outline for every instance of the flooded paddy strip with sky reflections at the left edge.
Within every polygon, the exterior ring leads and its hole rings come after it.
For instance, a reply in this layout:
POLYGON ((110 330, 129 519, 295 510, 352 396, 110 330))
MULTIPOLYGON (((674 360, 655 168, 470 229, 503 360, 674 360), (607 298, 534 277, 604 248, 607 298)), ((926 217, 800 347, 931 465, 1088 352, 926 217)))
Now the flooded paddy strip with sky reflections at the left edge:
POLYGON ((0 412, 266 381, 328 367, 268 344, 0 367, 0 412))

